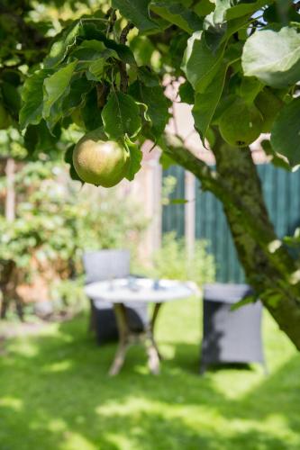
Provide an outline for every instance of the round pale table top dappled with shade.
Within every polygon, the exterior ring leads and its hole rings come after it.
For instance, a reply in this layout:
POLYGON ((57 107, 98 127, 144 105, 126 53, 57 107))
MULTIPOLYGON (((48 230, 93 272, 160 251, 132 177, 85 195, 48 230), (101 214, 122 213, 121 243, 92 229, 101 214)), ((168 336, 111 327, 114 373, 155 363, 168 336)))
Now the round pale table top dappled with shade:
POLYGON ((101 300, 111 303, 171 302, 184 300, 197 292, 196 285, 191 282, 133 277, 91 283, 85 286, 86 295, 94 301, 101 300))

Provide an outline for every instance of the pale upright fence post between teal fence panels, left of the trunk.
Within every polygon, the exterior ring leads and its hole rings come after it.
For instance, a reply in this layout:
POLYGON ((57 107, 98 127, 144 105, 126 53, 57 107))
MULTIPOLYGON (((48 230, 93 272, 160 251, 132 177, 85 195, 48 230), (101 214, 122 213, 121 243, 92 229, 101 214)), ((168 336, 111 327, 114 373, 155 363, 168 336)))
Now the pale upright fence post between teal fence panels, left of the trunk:
POLYGON ((186 253, 190 259, 195 250, 195 176, 185 172, 185 239, 186 253))

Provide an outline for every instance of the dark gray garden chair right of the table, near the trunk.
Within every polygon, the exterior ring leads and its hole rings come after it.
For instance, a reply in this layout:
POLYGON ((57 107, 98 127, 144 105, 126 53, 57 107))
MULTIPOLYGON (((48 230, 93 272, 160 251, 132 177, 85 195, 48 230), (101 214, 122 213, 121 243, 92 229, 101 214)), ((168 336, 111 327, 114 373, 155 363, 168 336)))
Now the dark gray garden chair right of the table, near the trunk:
POLYGON ((204 337, 200 372, 208 365, 260 363, 267 372, 261 339, 261 303, 232 311, 232 304, 252 293, 248 284, 205 284, 204 337))

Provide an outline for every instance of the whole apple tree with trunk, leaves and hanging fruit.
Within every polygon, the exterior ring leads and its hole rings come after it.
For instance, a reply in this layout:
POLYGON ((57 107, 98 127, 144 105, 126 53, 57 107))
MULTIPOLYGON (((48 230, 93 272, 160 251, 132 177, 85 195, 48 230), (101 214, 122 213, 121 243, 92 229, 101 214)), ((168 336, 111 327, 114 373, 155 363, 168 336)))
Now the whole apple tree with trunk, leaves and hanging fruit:
POLYGON ((300 164, 299 3, 95 1, 50 32, 30 1, 4 4, 0 13, 16 26, 13 35, 1 31, 2 127, 11 120, 6 111, 17 121, 18 95, 10 92, 23 85, 18 126, 28 148, 77 127, 84 136, 66 153, 71 175, 105 186, 133 179, 145 139, 159 145, 163 164, 184 166, 223 202, 249 284, 300 350, 300 259, 288 248, 298 241, 277 238, 249 148, 269 133, 263 147, 271 162, 286 170, 300 164), (172 111, 165 89, 177 81, 214 169, 165 132, 172 111))

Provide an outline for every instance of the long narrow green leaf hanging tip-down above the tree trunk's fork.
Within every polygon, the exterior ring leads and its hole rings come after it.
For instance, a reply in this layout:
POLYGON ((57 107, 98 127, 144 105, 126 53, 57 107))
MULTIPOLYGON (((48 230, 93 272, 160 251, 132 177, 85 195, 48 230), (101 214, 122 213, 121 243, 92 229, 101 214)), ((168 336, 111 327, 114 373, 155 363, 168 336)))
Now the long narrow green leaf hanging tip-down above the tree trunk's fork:
POLYGON ((195 94, 193 116, 195 128, 202 139, 205 139, 208 127, 213 119, 215 109, 220 102, 228 64, 223 63, 213 81, 205 92, 195 94))

